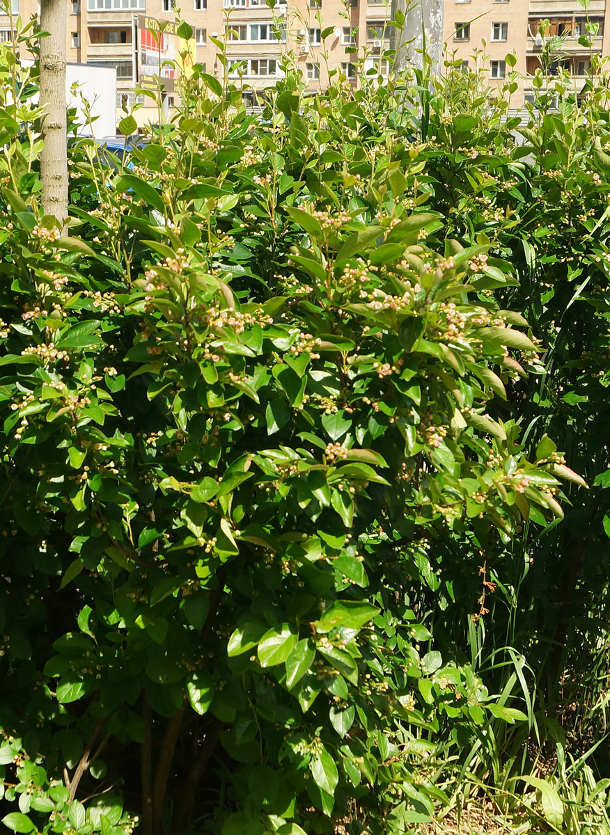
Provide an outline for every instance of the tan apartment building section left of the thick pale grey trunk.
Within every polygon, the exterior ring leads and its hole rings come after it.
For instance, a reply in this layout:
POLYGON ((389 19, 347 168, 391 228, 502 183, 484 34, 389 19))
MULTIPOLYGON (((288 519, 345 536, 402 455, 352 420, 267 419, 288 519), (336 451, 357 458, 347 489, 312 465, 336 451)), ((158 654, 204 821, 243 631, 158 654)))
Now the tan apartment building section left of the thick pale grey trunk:
MULTIPOLYGON (((28 20, 38 13, 38 0, 8 3, 14 17, 28 20)), ((228 73, 252 101, 281 78, 287 53, 312 91, 324 89, 332 73, 358 83, 358 55, 365 55, 363 72, 388 72, 383 53, 389 48, 389 0, 277 0, 274 8, 266 0, 69 0, 67 13, 69 63, 116 68, 117 119, 121 105, 134 102, 140 15, 161 21, 179 16, 190 23, 196 62, 218 78, 228 73), (226 69, 215 40, 226 41, 226 69)), ((11 17, 0 14, 0 40, 10 38, 11 17)), ((139 104, 149 105, 135 114, 140 124, 156 120, 150 99, 142 97, 139 104)))

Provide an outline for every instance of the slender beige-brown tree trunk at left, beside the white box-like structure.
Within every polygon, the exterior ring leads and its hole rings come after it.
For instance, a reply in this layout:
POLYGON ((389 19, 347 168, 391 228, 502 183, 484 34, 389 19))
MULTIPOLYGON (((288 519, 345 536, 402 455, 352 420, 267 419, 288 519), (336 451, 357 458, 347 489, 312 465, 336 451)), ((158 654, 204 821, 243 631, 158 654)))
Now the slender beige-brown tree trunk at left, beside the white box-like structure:
POLYGON ((63 229, 68 219, 68 154, 66 149, 66 0, 41 0, 40 104, 43 150, 40 175, 45 215, 55 215, 63 229))

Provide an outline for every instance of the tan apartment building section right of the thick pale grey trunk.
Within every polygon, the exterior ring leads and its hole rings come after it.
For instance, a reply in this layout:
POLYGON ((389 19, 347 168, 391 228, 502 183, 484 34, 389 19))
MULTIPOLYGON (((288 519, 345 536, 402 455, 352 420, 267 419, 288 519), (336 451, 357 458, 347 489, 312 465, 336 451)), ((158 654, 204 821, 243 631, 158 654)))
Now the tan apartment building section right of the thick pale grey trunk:
POLYGON ((586 12, 578 0, 445 0, 445 57, 461 60, 464 68, 485 68, 493 87, 511 72, 506 54, 513 53, 522 80, 512 100, 521 108, 534 99, 531 82, 548 38, 559 36, 559 48, 548 56, 549 74, 567 70, 578 94, 591 69, 591 50, 608 54, 608 9, 606 0, 589 0, 586 12), (543 21, 548 25, 541 34, 543 21), (591 49, 580 43, 587 22, 597 24, 591 49))

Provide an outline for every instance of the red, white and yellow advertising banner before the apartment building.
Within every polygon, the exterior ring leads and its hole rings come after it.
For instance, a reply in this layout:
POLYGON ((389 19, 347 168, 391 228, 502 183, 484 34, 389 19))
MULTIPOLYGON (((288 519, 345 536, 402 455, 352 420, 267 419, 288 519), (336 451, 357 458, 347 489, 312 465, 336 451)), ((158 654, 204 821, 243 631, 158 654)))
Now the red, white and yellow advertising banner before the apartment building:
POLYGON ((138 82, 146 89, 173 93, 180 75, 189 75, 195 60, 195 39, 180 36, 184 24, 138 15, 138 82), (185 57, 186 53, 186 57, 185 57), (171 63, 166 63, 171 62, 171 63))

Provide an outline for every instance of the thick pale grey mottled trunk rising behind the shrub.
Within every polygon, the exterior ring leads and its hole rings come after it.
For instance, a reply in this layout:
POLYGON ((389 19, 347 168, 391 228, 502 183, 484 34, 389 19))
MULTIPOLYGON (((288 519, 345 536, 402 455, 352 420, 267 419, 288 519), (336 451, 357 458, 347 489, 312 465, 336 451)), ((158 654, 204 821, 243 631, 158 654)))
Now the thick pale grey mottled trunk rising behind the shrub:
POLYGON ((430 73, 438 73, 443 56, 444 0, 392 0, 393 20, 397 11, 404 14, 404 25, 402 30, 390 28, 390 48, 396 50, 395 71, 422 69, 425 48, 432 61, 430 73))

